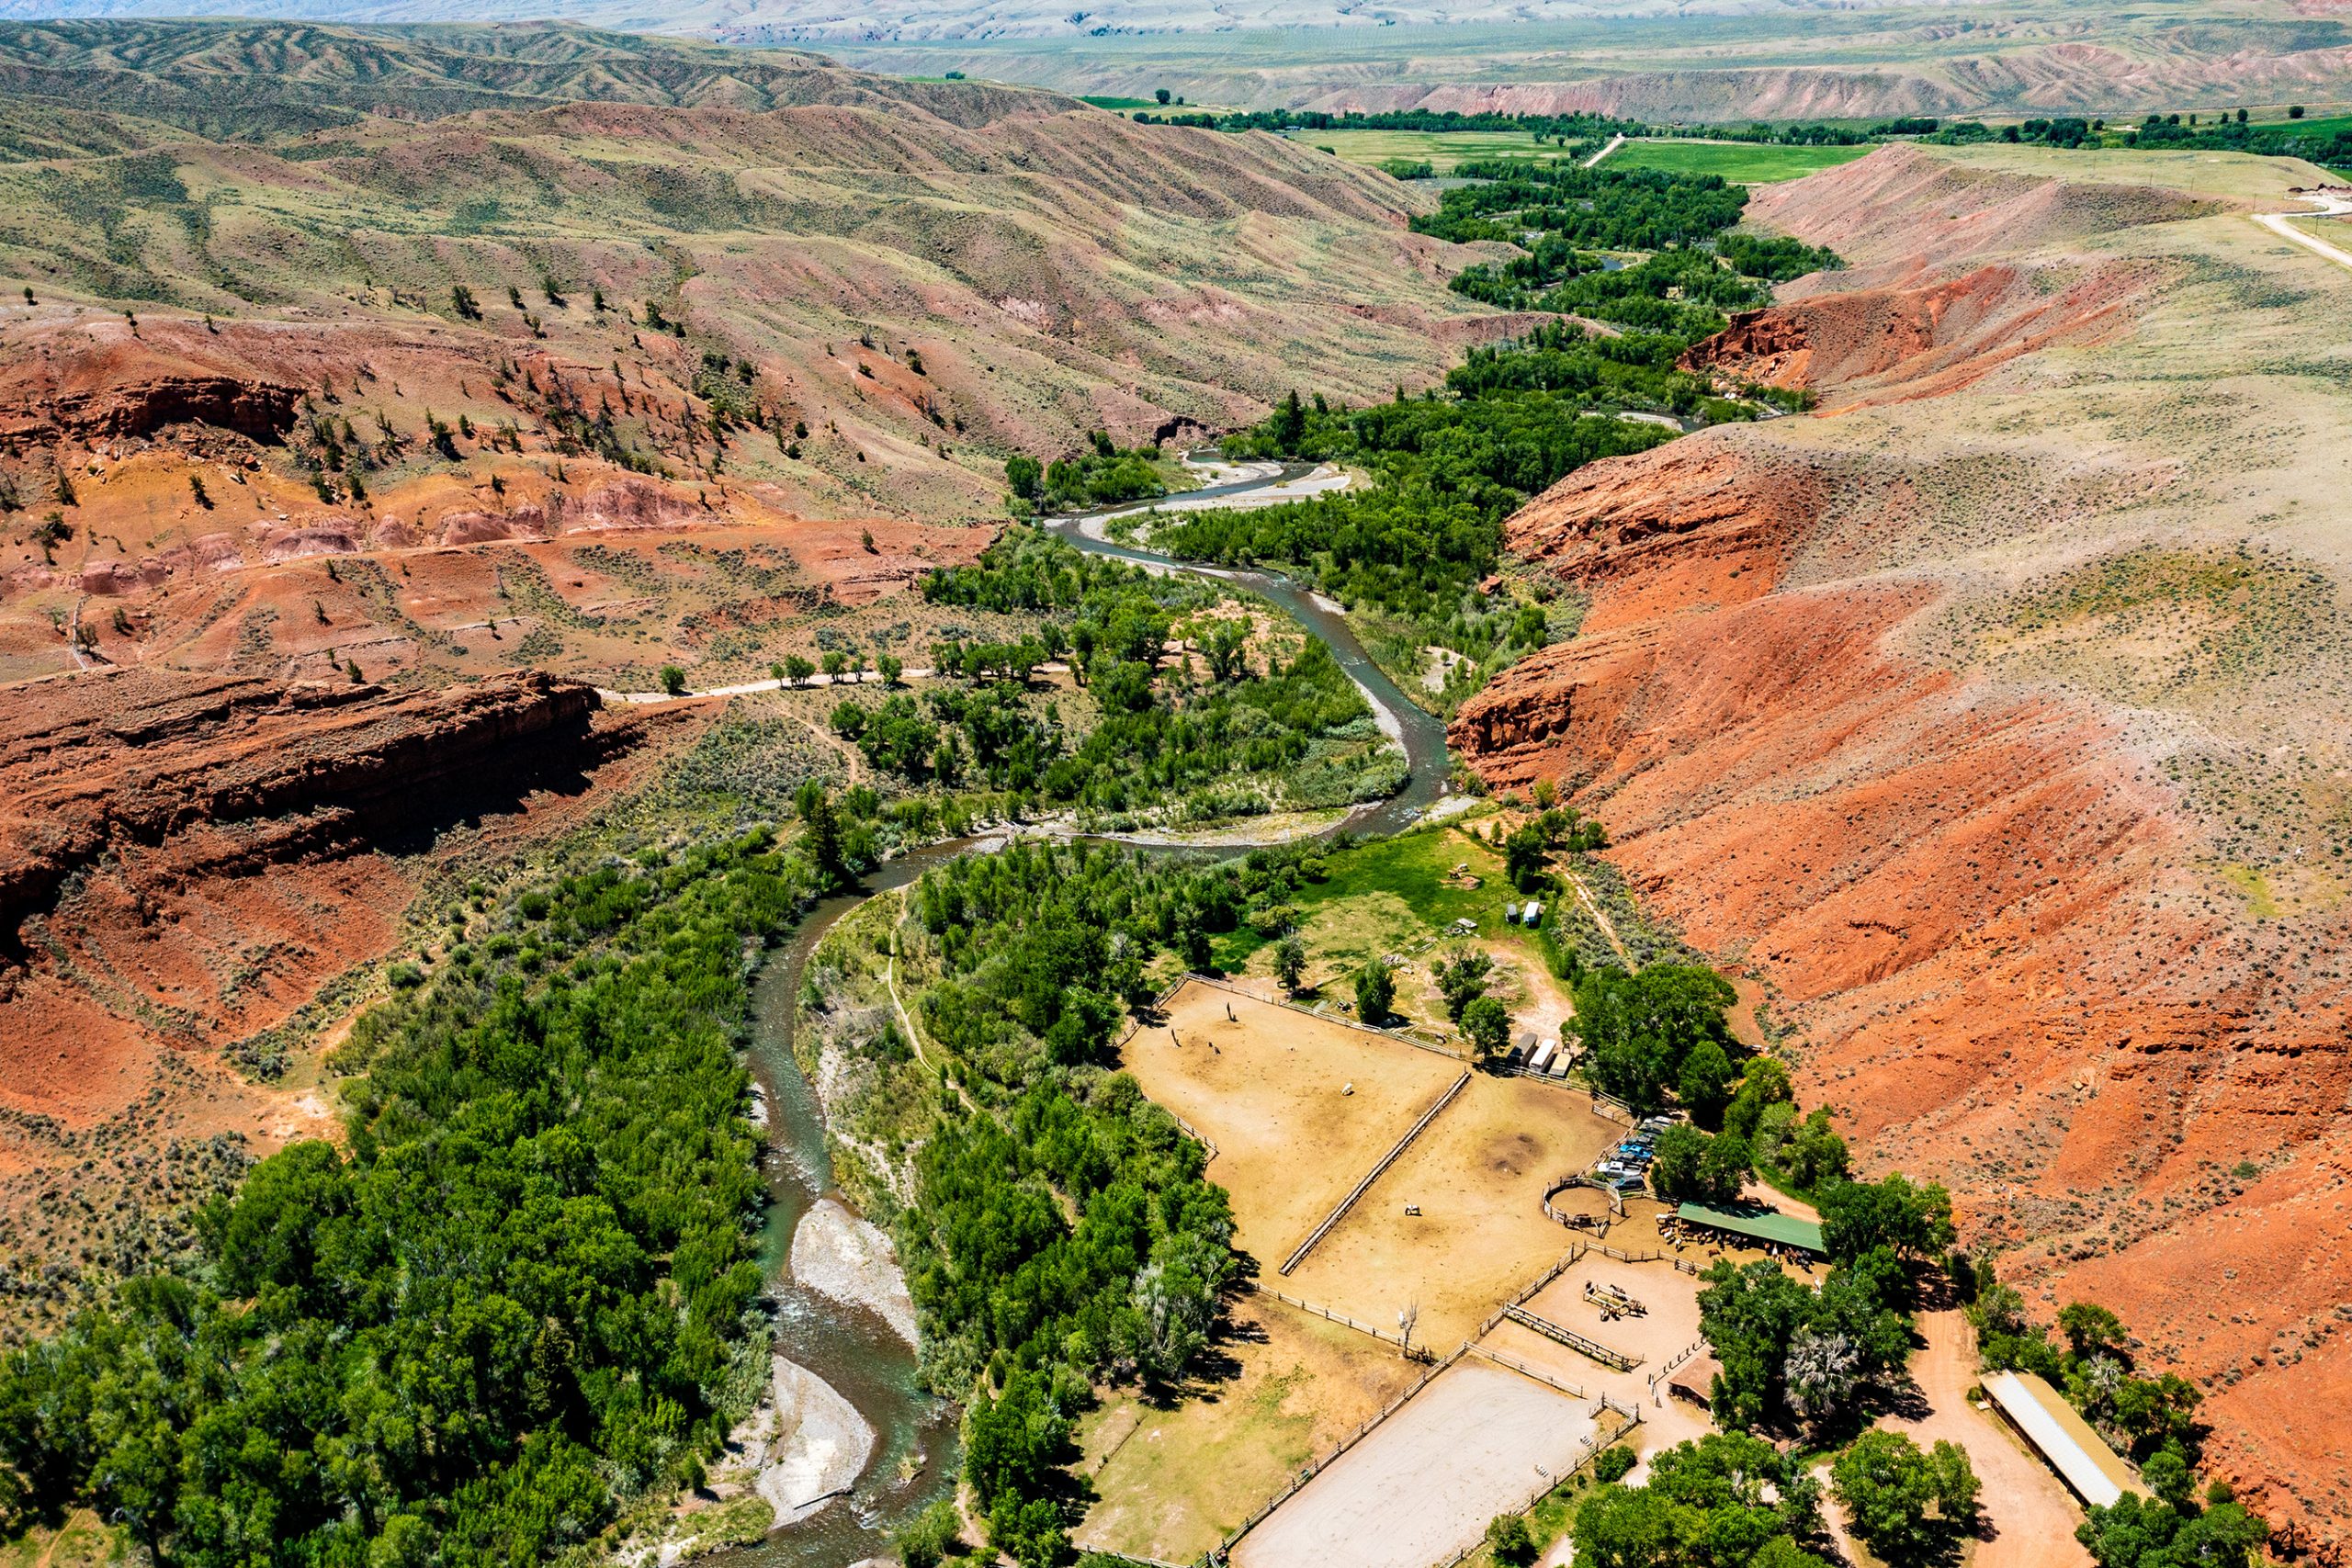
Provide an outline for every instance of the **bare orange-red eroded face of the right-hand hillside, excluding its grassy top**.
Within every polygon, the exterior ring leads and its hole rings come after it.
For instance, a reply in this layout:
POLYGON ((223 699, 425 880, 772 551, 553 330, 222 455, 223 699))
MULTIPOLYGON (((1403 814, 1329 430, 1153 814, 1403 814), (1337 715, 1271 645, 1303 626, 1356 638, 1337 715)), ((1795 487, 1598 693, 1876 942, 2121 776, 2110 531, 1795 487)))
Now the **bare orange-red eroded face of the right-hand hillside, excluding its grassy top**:
MULTIPOLYGON (((2178 209, 2049 181, 1971 195, 1924 162, 1879 153, 1811 202, 1773 193, 1776 216, 1837 244, 2009 214, 1980 230, 2013 244, 2018 214, 2067 237, 2178 209)), ((1811 383, 1823 416, 1592 465, 1510 522, 1592 607, 1465 705, 1454 743, 1494 785, 1581 785, 1644 898, 1766 983, 1799 1093, 1839 1107, 1863 1161, 1950 1182, 1964 1234, 2044 1312, 2114 1305, 2150 1366, 2209 1389, 2216 1467, 2291 1542, 2340 1547, 2352 997, 2328 954, 2352 919, 2216 898, 2216 825, 2133 715, 1933 651, 1922 628, 1955 592, 1936 487, 1962 447, 1884 449, 1858 414, 1940 397, 1957 425, 1966 390, 2018 407, 2049 346, 2122 341, 2176 273, 1926 242, 1863 261, 1900 287, 1818 282, 1700 355, 1811 383)), ((2046 505, 2002 508, 2018 527, 2117 510, 2093 463, 2004 482, 2046 505)))

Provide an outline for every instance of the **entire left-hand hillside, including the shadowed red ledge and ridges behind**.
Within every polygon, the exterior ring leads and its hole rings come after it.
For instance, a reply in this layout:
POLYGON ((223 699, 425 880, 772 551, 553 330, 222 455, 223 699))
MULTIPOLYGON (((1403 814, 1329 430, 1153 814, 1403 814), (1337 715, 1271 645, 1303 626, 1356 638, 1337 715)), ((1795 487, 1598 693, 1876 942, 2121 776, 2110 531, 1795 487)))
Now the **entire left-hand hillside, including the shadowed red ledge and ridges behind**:
MULTIPOLYGON (((1482 320, 1392 181, 800 54, 0 28, 0 94, 9 1335, 334 1135, 390 954, 724 729, 595 686, 1009 637, 908 592, 1009 454, 1388 393, 1482 320)), ((856 780, 828 708, 701 766, 856 780)))

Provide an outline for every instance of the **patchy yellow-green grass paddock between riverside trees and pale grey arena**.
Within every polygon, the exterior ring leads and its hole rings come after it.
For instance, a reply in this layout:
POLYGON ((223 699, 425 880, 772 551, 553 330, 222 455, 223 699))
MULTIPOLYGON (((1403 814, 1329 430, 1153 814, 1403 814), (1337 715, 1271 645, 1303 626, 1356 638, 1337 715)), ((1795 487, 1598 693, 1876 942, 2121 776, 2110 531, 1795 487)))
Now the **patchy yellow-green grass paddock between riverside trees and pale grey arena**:
POLYGON ((1080 1434, 1096 1505, 1077 1544, 1188 1563, 1421 1366, 1352 1328, 1242 1298, 1207 1378, 1176 1406, 1108 1401, 1080 1434))

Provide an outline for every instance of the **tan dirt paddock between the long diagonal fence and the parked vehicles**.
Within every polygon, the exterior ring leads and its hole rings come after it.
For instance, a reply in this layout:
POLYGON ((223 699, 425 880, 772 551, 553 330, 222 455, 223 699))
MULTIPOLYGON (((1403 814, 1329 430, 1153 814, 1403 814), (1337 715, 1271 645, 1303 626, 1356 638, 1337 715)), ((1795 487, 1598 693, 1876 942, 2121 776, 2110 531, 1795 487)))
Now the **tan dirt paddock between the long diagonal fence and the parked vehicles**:
POLYGON ((1618 1131, 1578 1091, 1479 1074, 1284 1288, 1383 1326, 1421 1302, 1418 1340, 1451 1349, 1569 1251, 1543 1190, 1618 1131))

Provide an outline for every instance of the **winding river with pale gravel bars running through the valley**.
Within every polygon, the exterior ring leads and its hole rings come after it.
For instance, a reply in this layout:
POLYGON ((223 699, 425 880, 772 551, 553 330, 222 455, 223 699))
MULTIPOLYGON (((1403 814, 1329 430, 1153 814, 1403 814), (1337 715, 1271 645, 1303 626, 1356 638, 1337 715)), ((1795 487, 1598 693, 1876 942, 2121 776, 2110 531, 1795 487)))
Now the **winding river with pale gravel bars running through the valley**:
MULTIPOLYGON (((1265 465, 1272 468, 1272 465, 1265 465)), ((1190 505, 1232 503, 1254 491, 1301 480, 1308 468, 1291 463, 1277 473, 1265 468, 1244 480, 1188 491, 1190 505)), ((1124 508, 1131 510, 1131 508, 1124 508)), ((1381 729, 1404 748, 1406 783, 1383 799, 1350 811, 1322 837, 1336 832, 1388 835, 1421 820, 1446 795, 1444 722, 1411 703, 1395 682, 1364 654, 1345 614, 1329 599, 1272 571, 1228 571, 1171 559, 1136 545, 1117 545, 1101 536, 1110 512, 1061 517, 1047 527, 1094 555, 1143 564, 1152 571, 1190 571, 1256 592, 1291 614, 1303 628, 1329 644, 1341 668, 1357 684, 1381 729), (1091 527, 1089 527, 1091 524, 1091 527)), ((915 1352, 875 1314, 844 1307, 793 1279, 793 1232, 823 1197, 840 1197, 833 1164, 826 1157, 826 1126, 816 1093, 793 1060, 793 1011, 800 978, 816 943, 866 898, 906 886, 924 870, 955 856, 1000 844, 1002 839, 955 839, 913 851, 880 867, 856 893, 816 905, 760 976, 753 994, 753 1077, 767 1095, 767 1187, 769 1211, 762 1232, 762 1267, 776 1302, 776 1354, 800 1363, 837 1389, 875 1429, 873 1458, 856 1490, 818 1509, 814 1516, 767 1535, 753 1547, 731 1549, 706 1561, 727 1568, 847 1568, 863 1559, 891 1556, 889 1530, 946 1497, 955 1488, 955 1408, 922 1392, 915 1382, 915 1352)), ((1214 851, 1160 849, 1157 853, 1240 853, 1242 844, 1214 851)))

